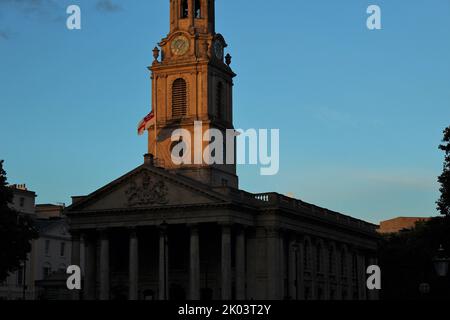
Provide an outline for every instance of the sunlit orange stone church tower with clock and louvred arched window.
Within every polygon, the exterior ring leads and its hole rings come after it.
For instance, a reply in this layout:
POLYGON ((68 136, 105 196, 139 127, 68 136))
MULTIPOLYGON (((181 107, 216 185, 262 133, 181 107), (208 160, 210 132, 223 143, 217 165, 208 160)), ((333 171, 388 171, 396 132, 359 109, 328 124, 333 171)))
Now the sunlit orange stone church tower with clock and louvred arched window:
MULTIPOLYGON (((149 67, 155 125, 149 129, 148 152, 167 170, 176 170, 212 187, 237 188, 236 166, 224 164, 225 146, 223 161, 213 164, 205 163, 203 157, 199 163, 199 150, 194 150, 194 140, 200 139, 195 136, 199 134, 200 122, 200 134, 218 129, 224 143, 226 130, 233 129, 232 88, 236 75, 230 68, 231 56, 224 56, 225 39, 215 32, 214 0, 171 0, 170 33, 159 47, 153 50, 155 60, 149 67), (189 163, 172 161, 172 150, 181 142, 172 141, 172 133, 177 129, 191 134, 189 163)), ((201 142, 201 154, 210 142, 201 142)))

